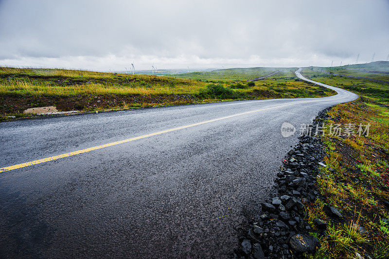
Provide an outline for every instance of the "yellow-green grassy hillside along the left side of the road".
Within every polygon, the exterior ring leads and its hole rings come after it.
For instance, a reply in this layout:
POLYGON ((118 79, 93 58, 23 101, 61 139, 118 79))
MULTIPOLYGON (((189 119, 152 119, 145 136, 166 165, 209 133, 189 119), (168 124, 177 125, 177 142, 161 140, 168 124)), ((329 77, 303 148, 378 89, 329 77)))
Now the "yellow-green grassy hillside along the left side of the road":
MULTIPOLYGON (((271 69, 269 69, 270 71, 271 69)), ((265 71, 267 73, 267 71, 265 71)), ((259 74, 240 75, 248 79, 259 74)), ((230 77, 231 78, 231 77, 230 77)), ((0 67, 0 119, 28 108, 107 111, 221 100, 324 97, 334 91, 297 80, 291 71, 270 79, 202 81, 65 69, 0 67)))

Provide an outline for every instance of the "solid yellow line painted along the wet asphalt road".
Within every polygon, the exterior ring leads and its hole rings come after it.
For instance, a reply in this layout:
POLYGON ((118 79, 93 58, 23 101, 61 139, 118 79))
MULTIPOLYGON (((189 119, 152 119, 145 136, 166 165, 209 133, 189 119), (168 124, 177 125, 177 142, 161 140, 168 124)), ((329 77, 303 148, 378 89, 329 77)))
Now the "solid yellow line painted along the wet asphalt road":
MULTIPOLYGON (((343 98, 343 97, 341 97, 341 98, 343 98)), ((336 99, 334 99, 334 100, 336 100, 336 99)), ((43 158, 43 159, 39 159, 39 160, 34 160, 34 161, 31 161, 31 162, 19 163, 19 164, 15 164, 15 165, 11 165, 11 166, 6 166, 6 167, 3 167, 3 168, 0 168, 0 173, 5 172, 5 171, 10 171, 10 170, 15 170, 15 169, 26 167, 26 166, 30 166, 30 165, 34 165, 34 164, 38 164, 38 163, 44 163, 44 162, 49 162, 49 161, 57 160, 57 159, 60 159, 60 158, 70 157, 70 156, 86 153, 86 152, 89 152, 89 151, 92 151, 92 150, 97 150, 97 149, 105 148, 105 147, 108 147, 108 146, 115 146, 115 145, 119 145, 119 144, 130 142, 130 141, 138 140, 138 139, 144 139, 144 138, 156 136, 156 135, 159 135, 159 134, 163 134, 163 133, 167 133, 167 132, 171 132, 171 131, 176 131, 176 130, 179 130, 179 129, 186 129, 186 128, 190 128, 190 127, 195 127, 195 126, 206 124, 206 123, 210 123, 210 122, 224 120, 224 119, 228 119, 228 118, 232 118, 232 117, 236 117, 236 116, 241 116, 241 115, 245 115, 245 114, 249 114, 249 113, 261 112, 261 111, 265 111, 265 110, 268 110, 268 109, 279 108, 279 107, 283 107, 283 106, 294 105, 294 104, 299 104, 299 103, 304 103, 304 102, 315 102, 315 101, 320 101, 320 100, 311 100, 311 101, 301 101, 301 102, 288 103, 288 104, 268 107, 268 108, 264 108, 264 109, 260 109, 260 110, 255 110, 255 111, 250 111, 250 112, 245 112, 245 113, 237 113, 237 114, 233 114, 233 115, 222 117, 222 118, 217 118, 217 119, 212 119, 212 120, 207 120, 207 121, 203 121, 203 122, 198 122, 198 123, 194 123, 194 124, 190 124, 190 125, 186 125, 186 126, 182 126, 182 127, 177 127, 177 128, 174 128, 174 129, 166 129, 166 130, 154 132, 154 133, 151 133, 151 134, 146 134, 146 135, 142 135, 142 136, 138 136, 138 137, 134 137, 134 138, 130 138, 130 139, 124 139, 124 140, 121 140, 121 141, 104 144, 104 145, 101 145, 101 146, 93 146, 93 147, 89 147, 89 148, 85 148, 85 149, 81 149, 81 150, 77 150, 77 151, 73 151, 73 152, 69 152, 69 153, 65 153, 65 154, 61 154, 61 155, 57 155, 57 156, 53 156, 53 157, 48 157, 48 158, 43 158)))

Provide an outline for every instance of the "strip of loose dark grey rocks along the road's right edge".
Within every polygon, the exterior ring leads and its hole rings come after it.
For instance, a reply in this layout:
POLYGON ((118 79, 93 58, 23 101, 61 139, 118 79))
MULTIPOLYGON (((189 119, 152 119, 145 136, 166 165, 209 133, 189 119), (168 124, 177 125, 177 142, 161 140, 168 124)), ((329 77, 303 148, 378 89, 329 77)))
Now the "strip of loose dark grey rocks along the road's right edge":
MULTIPOLYGON (((321 126, 327 111, 320 112, 314 120, 313 133, 300 137, 300 143, 288 152, 275 179, 278 195, 261 204, 262 211, 240 237, 235 258, 302 258, 303 253, 314 253, 320 246, 318 239, 309 235, 314 231, 304 220, 304 204, 317 198, 318 167, 326 166, 324 145, 315 137, 315 129, 316 124, 321 126)), ((341 217, 335 208, 327 210, 341 217)), ((326 235, 327 223, 321 219, 314 222, 321 229, 318 234, 326 235)))

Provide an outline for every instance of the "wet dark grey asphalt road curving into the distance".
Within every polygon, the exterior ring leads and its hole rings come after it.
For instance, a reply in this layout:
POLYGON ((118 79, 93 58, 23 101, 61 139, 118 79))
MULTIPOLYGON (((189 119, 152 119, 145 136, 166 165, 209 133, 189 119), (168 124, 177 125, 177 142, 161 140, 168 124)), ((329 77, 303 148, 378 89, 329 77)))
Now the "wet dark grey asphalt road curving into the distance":
POLYGON ((5 167, 275 107, 0 173, 0 257, 229 257, 298 142, 281 124, 357 97, 336 90, 0 123, 5 167))

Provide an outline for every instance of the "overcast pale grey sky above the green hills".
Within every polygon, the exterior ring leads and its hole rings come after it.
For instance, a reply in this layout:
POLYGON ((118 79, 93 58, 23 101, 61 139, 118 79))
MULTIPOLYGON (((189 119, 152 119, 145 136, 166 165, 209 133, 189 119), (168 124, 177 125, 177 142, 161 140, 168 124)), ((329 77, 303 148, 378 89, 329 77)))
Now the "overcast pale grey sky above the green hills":
POLYGON ((0 65, 124 70, 386 60, 389 0, 0 0, 0 65))

